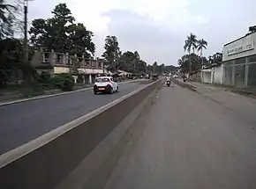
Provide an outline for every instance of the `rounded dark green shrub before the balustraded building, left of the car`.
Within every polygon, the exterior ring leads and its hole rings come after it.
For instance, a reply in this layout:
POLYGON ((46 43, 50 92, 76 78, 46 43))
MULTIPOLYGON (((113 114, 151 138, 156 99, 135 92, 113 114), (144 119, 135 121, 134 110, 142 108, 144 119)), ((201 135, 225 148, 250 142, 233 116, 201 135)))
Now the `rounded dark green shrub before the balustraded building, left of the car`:
POLYGON ((70 74, 58 74, 51 78, 52 84, 56 86, 57 89, 62 91, 72 91, 75 83, 74 78, 70 74))

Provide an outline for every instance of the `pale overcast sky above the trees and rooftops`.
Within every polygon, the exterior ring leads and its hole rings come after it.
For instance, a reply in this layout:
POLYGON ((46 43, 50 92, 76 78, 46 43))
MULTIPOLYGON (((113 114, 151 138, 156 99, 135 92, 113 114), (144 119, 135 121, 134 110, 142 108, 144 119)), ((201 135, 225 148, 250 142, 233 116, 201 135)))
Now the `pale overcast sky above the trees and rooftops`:
POLYGON ((256 25, 255 0, 35 0, 29 2, 30 21, 49 18, 59 3, 94 32, 97 56, 105 37, 116 35, 122 51, 138 50, 150 64, 177 65, 189 33, 208 41, 208 56, 256 25))

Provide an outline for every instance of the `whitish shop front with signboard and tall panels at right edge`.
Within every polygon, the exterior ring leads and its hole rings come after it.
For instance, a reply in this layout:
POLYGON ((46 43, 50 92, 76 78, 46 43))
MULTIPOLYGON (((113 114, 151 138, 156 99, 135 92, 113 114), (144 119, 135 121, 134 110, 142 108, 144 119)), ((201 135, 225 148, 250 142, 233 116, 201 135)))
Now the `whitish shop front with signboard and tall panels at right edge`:
POLYGON ((223 84, 256 90, 256 33, 223 47, 223 84))

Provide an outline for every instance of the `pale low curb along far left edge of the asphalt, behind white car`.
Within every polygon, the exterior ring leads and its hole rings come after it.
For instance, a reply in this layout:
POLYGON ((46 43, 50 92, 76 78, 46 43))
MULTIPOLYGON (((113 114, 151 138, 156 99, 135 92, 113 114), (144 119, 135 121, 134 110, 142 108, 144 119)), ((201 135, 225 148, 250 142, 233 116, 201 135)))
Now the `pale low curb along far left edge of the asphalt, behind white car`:
MULTIPOLYGON (((130 82, 133 82, 133 81, 139 81, 139 80, 131 80, 131 81, 126 81, 126 82, 119 82, 118 84, 126 84, 126 83, 130 83, 130 82)), ((65 92, 60 92, 60 93, 51 94, 51 95, 37 96, 37 97, 33 97, 33 98, 21 98, 21 99, 9 101, 9 102, 3 102, 3 103, 0 102, 0 106, 12 105, 12 104, 17 104, 17 103, 21 103, 21 102, 31 101, 31 100, 35 100, 35 99, 51 98, 51 97, 71 94, 71 93, 79 92, 79 91, 88 91, 88 90, 92 90, 92 89, 93 89, 93 87, 89 87, 89 88, 84 88, 84 89, 80 89, 80 90, 76 90, 76 91, 65 91, 65 92)))

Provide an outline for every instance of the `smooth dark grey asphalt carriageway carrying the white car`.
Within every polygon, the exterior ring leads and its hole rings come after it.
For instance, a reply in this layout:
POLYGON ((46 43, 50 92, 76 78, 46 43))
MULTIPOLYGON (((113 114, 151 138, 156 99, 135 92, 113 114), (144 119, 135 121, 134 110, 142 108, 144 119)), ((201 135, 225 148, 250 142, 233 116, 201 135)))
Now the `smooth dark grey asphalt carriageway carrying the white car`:
POLYGON ((121 98, 145 84, 148 82, 119 84, 120 91, 113 95, 94 95, 92 90, 78 91, 53 98, 0 106, 0 154, 121 98))

